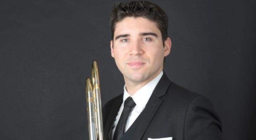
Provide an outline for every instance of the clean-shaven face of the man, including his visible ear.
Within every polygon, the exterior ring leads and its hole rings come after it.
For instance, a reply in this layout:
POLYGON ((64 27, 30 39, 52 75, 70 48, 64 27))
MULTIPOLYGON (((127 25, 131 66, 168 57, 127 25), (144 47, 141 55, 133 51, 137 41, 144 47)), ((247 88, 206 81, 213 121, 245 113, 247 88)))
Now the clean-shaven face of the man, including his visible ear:
POLYGON ((111 55, 125 83, 147 84, 154 79, 163 69, 164 56, 170 53, 170 38, 164 45, 155 22, 141 17, 117 22, 110 42, 111 55))

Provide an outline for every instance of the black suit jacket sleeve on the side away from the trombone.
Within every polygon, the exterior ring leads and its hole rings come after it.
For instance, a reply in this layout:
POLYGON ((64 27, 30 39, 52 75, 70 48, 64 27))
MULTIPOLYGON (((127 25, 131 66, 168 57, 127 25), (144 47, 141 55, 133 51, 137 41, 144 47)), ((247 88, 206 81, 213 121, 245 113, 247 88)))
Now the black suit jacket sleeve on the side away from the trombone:
POLYGON ((184 140, 222 140, 221 120, 203 96, 194 98, 187 108, 184 140))

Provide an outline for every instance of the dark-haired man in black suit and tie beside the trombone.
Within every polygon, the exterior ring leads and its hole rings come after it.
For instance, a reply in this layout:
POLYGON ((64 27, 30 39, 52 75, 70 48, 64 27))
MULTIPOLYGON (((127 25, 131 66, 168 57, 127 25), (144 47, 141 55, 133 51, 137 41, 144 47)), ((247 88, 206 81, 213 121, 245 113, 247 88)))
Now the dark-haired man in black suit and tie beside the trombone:
POLYGON ((154 3, 120 3, 110 18, 111 55, 124 93, 103 107, 105 140, 220 140, 209 100, 171 82, 163 70, 171 40, 168 18, 154 3))

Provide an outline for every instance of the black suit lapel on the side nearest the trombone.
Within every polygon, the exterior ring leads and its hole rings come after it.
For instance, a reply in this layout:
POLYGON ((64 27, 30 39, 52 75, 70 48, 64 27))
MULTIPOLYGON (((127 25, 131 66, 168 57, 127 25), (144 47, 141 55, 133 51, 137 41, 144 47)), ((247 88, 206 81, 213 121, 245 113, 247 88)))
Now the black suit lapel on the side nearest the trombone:
POLYGON ((117 96, 116 99, 114 99, 112 101, 112 105, 109 108, 109 113, 108 113, 108 116, 109 116, 108 120, 109 121, 106 122, 106 127, 104 127, 105 128, 105 130, 104 130, 104 140, 111 140, 110 139, 110 133, 111 133, 111 130, 112 130, 112 125, 115 121, 117 112, 118 112, 122 102, 123 102, 123 94, 121 94, 120 96, 117 96))

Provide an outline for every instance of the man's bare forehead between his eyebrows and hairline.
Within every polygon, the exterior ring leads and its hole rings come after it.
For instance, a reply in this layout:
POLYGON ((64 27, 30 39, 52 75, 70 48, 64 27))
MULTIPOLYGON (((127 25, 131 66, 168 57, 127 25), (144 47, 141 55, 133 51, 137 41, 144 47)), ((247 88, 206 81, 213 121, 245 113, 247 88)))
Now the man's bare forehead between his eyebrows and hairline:
POLYGON ((153 32, 161 35, 157 23, 141 17, 126 17, 115 25, 114 36, 119 34, 139 34, 144 32, 153 32))

